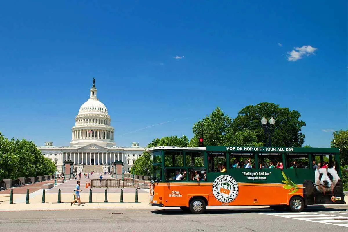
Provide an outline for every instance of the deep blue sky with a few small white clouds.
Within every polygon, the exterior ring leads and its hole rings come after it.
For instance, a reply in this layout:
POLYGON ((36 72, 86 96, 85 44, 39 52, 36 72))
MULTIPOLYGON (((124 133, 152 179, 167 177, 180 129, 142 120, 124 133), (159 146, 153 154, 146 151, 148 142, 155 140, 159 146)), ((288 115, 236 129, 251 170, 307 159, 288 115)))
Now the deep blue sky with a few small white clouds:
POLYGON ((4 1, 0 15, 8 138, 68 145, 93 77, 118 146, 260 102, 299 111, 311 146, 348 127, 347 1, 4 1))

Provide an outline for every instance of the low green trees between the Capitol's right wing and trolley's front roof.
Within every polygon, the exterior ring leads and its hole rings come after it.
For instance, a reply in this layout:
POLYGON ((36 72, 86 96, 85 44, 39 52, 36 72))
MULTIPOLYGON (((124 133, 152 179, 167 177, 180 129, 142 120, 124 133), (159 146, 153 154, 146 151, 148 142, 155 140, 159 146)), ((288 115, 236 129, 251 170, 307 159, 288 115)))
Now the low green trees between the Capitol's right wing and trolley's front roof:
MULTIPOLYGON (((147 145, 148 147, 156 147, 156 146, 188 146, 189 139, 187 136, 182 136, 181 138, 178 138, 177 136, 170 136, 170 137, 163 137, 163 138, 155 138, 152 140, 151 143, 147 145)), ((141 157, 135 160, 134 165, 132 168, 130 168, 130 173, 133 173, 135 175, 148 175, 147 171, 145 171, 145 168, 149 170, 149 173, 151 173, 151 160, 150 160, 150 153, 147 151, 144 151, 141 157)))

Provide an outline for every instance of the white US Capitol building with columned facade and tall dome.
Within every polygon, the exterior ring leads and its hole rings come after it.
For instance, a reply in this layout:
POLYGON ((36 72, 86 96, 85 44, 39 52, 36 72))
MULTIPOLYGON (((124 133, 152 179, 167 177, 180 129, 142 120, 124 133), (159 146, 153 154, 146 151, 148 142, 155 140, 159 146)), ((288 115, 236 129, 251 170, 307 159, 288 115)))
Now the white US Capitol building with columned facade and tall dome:
POLYGON ((127 172, 145 150, 135 142, 131 147, 116 146, 111 117, 97 98, 94 78, 89 99, 81 105, 71 130, 69 146, 56 147, 53 142, 45 142, 45 146, 37 147, 44 157, 55 163, 59 172, 64 160, 71 160, 75 171, 96 172, 111 170, 114 161, 123 161, 127 172))

